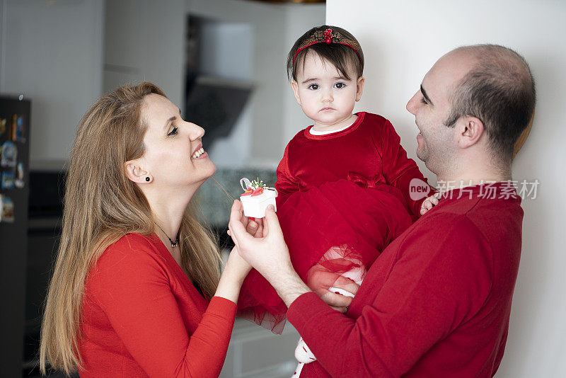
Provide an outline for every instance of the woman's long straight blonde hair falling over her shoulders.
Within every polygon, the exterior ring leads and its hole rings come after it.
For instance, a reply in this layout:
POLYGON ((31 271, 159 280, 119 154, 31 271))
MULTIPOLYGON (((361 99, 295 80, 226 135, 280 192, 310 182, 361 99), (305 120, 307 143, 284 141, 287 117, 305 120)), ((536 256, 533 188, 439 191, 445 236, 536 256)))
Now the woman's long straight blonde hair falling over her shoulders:
MULTIPOLYGON (((63 230, 41 329, 40 371, 47 362, 67 374, 81 367, 81 304, 88 272, 125 234, 152 234, 149 203, 125 173, 144 154, 144 97, 165 96, 149 82, 125 85, 101 97, 83 116, 69 160, 63 230)), ((185 271, 207 297, 216 291, 220 258, 212 233, 187 207, 179 246, 185 271)))

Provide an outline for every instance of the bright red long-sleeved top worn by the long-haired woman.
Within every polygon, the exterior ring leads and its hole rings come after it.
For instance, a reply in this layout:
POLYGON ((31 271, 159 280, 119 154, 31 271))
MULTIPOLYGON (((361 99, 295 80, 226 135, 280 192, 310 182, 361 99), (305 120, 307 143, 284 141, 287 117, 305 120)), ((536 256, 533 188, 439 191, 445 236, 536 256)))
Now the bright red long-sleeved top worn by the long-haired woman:
POLYGON ((127 234, 91 269, 81 377, 218 377, 236 304, 197 292, 158 236, 127 234))

